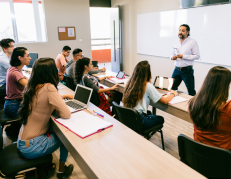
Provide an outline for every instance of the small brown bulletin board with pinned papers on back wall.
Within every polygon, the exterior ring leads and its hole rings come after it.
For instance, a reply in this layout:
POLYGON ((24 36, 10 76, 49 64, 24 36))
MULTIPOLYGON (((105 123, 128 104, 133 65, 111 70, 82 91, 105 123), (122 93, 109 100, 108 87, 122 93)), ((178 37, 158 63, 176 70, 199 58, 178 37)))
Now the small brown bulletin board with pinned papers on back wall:
POLYGON ((59 40, 75 40, 75 27, 58 27, 59 40))

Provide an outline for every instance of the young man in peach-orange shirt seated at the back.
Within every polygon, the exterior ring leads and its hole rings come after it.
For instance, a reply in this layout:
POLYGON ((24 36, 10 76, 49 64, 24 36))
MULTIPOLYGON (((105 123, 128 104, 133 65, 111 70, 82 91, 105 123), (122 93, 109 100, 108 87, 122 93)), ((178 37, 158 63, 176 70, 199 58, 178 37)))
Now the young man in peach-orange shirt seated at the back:
POLYGON ((66 64, 68 62, 67 57, 71 53, 71 47, 69 46, 64 46, 63 47, 63 52, 61 54, 58 54, 58 56, 55 59, 55 64, 59 74, 59 80, 64 79, 64 73, 66 73, 66 64))

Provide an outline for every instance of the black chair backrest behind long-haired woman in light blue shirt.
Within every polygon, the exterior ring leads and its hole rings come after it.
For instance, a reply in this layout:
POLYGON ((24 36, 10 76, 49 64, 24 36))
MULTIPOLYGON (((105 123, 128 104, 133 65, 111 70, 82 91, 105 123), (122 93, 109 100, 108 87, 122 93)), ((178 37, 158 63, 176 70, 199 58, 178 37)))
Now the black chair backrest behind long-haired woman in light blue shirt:
POLYGON ((121 123, 138 133, 142 131, 140 115, 135 109, 119 106, 115 101, 112 104, 116 110, 117 119, 121 123))

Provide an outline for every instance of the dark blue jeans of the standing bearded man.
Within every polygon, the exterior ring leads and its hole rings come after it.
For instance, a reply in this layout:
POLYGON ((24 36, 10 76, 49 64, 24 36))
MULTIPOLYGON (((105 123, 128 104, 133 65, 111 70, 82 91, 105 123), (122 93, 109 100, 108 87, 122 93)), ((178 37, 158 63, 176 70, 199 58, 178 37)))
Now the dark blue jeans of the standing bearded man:
POLYGON ((175 67, 172 78, 174 78, 174 83, 172 86, 172 90, 178 90, 178 86, 181 84, 182 80, 184 81, 188 94, 191 96, 195 96, 195 84, 194 84, 194 70, 192 66, 184 67, 182 69, 179 69, 178 67, 175 67))

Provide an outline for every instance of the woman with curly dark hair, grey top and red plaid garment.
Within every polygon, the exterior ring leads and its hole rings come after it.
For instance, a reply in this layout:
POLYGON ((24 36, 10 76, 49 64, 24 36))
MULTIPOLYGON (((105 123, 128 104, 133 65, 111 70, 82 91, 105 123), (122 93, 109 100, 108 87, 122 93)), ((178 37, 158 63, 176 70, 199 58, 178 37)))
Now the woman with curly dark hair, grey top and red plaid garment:
MULTIPOLYGON (((110 92, 116 89, 118 84, 114 85, 111 88, 101 89, 99 87, 98 80, 95 77, 90 76, 88 74, 90 71, 92 71, 92 67, 93 65, 89 58, 84 57, 82 59, 79 59, 75 63, 75 67, 74 67, 74 81, 76 84, 82 83, 83 85, 89 88, 92 88, 93 91, 97 92, 99 94, 99 100, 100 100, 100 104, 98 107, 102 109, 103 111, 105 111, 106 113, 111 115, 110 104, 106 100, 103 93, 110 92)), ((102 77, 102 78, 99 78, 99 80, 103 80, 105 78, 111 78, 111 76, 102 77)), ((112 98, 114 97, 114 95, 112 95, 111 93, 108 95, 109 96, 111 95, 112 98)), ((116 100, 116 99, 113 98, 113 100, 116 100)))

